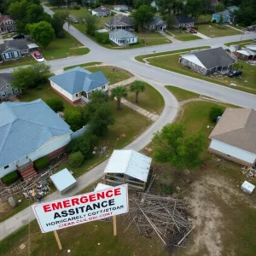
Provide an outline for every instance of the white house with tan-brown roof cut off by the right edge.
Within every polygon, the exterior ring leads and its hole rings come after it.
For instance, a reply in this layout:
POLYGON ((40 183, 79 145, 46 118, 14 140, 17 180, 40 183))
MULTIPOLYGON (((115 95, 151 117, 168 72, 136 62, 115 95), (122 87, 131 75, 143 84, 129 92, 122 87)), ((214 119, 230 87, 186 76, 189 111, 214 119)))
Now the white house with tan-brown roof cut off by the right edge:
POLYGON ((244 166, 255 166, 256 111, 227 108, 213 129, 208 150, 244 166))

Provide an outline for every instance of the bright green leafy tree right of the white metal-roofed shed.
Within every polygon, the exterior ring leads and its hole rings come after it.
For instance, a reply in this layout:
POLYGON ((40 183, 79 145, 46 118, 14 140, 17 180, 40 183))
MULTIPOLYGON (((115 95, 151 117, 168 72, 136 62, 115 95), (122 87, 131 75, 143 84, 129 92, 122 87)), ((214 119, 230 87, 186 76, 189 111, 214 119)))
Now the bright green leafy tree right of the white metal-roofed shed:
POLYGON ((201 132, 187 136, 182 124, 165 125, 154 135, 154 160, 169 162, 177 168, 195 167, 201 163, 205 137, 201 132))

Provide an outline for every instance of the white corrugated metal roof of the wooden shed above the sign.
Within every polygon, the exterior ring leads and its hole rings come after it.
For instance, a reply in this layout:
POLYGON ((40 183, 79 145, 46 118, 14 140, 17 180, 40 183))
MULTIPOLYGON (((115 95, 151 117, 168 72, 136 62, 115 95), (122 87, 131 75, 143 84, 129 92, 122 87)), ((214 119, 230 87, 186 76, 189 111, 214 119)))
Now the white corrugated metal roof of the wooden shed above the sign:
POLYGON ((152 159, 134 150, 114 150, 105 173, 124 173, 147 182, 152 159))

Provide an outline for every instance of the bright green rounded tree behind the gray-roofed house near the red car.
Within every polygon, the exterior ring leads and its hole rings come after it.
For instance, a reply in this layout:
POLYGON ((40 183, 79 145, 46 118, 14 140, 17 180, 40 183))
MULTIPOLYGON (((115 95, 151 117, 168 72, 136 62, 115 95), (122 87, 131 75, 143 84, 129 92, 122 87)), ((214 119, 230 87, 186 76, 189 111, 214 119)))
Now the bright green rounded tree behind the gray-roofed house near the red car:
POLYGON ((39 23, 32 24, 28 27, 32 38, 39 44, 46 48, 50 42, 55 38, 55 31, 49 22, 40 21, 39 23))

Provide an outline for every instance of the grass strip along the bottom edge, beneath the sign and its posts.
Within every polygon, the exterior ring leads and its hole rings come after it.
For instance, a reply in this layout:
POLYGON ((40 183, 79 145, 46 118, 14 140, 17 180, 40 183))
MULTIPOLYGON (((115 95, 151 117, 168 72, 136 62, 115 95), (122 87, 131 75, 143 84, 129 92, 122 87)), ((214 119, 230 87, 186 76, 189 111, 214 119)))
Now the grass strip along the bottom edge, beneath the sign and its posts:
POLYGON ((0 241, 2 256, 14 254, 44 256, 47 252, 50 255, 66 255, 71 250, 71 255, 113 255, 113 256, 165 256, 164 248, 155 237, 148 239, 145 236, 138 236, 134 227, 126 229, 122 224, 122 218, 117 217, 118 236, 113 236, 113 224, 103 221, 94 221, 87 224, 80 224, 67 229, 58 230, 63 249, 58 249, 53 232, 41 233, 36 220, 18 230, 15 234, 0 241), (20 250, 20 244, 26 247, 20 250))

